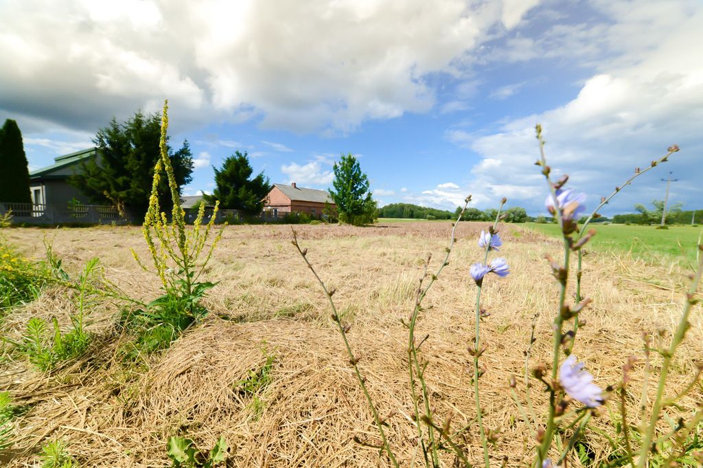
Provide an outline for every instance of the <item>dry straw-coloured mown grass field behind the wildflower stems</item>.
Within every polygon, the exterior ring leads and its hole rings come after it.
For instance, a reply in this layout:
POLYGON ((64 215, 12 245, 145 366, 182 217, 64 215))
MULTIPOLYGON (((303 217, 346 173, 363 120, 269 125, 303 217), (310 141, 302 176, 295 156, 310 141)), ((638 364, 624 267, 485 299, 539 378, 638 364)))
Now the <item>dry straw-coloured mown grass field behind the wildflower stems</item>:
MULTIPOLYGON (((458 441, 472 462, 482 460, 471 384, 476 287, 469 266, 482 258, 477 247, 486 223, 461 223, 450 264, 427 296, 418 336, 429 361, 427 382, 437 420, 453 414, 458 441)), ((349 337, 367 377, 370 394, 382 415, 401 466, 420 455, 411 421, 406 370, 406 329, 400 319, 413 307, 423 261, 432 254, 435 269, 448 244, 451 223, 393 223, 352 228, 297 226, 308 258, 330 286, 335 301, 352 324, 349 337)), ((522 458, 534 445, 527 424, 510 398, 508 378, 522 382, 533 318, 538 315, 531 365, 550 363, 557 283, 545 253, 557 256, 560 243, 517 226, 501 226, 501 256, 510 264, 506 278, 484 282, 483 323, 488 350, 482 357, 484 424, 499 429, 491 448, 496 464, 527 464, 522 458)), ((5 229, 3 235, 28 256, 42 256, 42 238, 53 242, 67 270, 75 272, 99 256, 105 276, 131 297, 150 301, 160 295, 154 275, 142 271, 129 248, 148 258, 139 228, 5 229)), ((148 365, 129 367, 117 357, 117 304, 103 301, 92 315, 98 334, 95 348, 77 362, 41 374, 6 351, 0 362, 0 390, 29 408, 19 418, 9 467, 37 463, 42 443, 65 438, 72 455, 86 467, 164 467, 166 441, 187 434, 198 446, 211 447, 224 436, 234 467, 384 467, 378 450, 358 446, 352 437, 377 438, 373 419, 342 348, 339 334, 318 284, 290 244, 289 226, 229 226, 207 270, 219 281, 205 305, 210 314, 148 365), (264 351, 265 350, 265 351, 264 351), (256 398, 237 390, 250 370, 262 367, 266 353, 275 356, 271 382, 256 398)), ((681 313, 685 271, 669 264, 645 263, 624 254, 585 256, 583 290, 593 305, 582 313, 574 353, 586 362, 595 382, 605 387, 621 379, 621 366, 642 355, 643 331, 672 330, 681 313)), ((4 319, 3 333, 18 339, 31 316, 66 320, 70 300, 64 290, 47 290, 37 301, 15 308, 4 319)), ((703 358, 701 306, 692 313, 691 329, 673 368, 669 394, 688 384, 696 359, 703 358)), ((643 377, 638 365, 635 391, 643 377)), ((518 386, 524 394, 524 386, 518 386)), ((654 388, 651 389, 652 393, 654 388)), ((531 388, 539 410, 546 394, 531 388)), ((681 401, 683 414, 701 401, 699 390, 681 401)), ((614 427, 617 405, 608 403, 586 433, 591 457, 610 452, 600 429, 614 427)), ((634 412, 634 411, 633 411, 634 412)), ((666 422, 662 420, 662 425, 666 422)), ((531 453, 529 451, 528 453, 531 453)), ((453 466, 445 455, 444 466, 453 466)), ((569 460, 570 467, 581 466, 569 460)), ((417 465, 416 465, 417 466, 417 465)))

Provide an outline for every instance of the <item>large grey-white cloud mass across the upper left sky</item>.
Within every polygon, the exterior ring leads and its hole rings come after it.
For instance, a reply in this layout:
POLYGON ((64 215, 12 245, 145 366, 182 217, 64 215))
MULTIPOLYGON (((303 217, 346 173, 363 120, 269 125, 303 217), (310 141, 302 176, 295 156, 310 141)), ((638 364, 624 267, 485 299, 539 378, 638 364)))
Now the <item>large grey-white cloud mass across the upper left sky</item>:
POLYGON ((432 108, 428 77, 460 76, 496 25, 517 27, 537 3, 1 2, 13 21, 0 55, 13 66, 0 74, 0 111, 93 132, 169 98, 176 131, 257 118, 344 133, 432 108))

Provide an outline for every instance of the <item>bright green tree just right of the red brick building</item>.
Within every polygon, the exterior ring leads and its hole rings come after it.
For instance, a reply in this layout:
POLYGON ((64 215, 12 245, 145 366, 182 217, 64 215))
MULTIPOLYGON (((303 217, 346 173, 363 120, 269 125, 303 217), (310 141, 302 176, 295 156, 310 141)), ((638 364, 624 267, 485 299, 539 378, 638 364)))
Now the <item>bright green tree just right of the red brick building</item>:
POLYGON ((340 222, 363 224, 373 221, 378 216, 376 202, 368 187, 368 177, 361 172, 361 166, 356 157, 342 155, 339 163, 333 167, 335 179, 332 185, 335 190, 328 190, 330 197, 337 205, 340 222))

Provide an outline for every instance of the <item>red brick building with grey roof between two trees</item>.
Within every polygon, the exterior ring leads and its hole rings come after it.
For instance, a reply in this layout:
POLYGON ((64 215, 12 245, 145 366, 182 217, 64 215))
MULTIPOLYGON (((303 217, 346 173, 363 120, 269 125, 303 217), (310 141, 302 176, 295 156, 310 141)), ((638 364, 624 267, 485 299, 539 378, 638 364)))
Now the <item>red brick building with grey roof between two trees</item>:
POLYGON ((264 210, 271 211, 274 216, 285 213, 308 213, 315 218, 322 215, 325 202, 335 207, 327 190, 298 187, 295 182, 287 186, 274 183, 269 195, 264 199, 264 210))

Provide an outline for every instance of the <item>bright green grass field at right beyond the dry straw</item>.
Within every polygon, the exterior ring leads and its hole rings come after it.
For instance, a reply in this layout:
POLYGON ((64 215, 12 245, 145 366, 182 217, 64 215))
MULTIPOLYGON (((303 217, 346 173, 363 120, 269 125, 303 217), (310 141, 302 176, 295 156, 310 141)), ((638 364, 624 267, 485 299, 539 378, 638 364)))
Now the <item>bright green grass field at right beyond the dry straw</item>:
MULTIPOLYGON (((540 233, 560 236, 556 224, 525 223, 525 227, 540 233)), ((656 226, 626 226, 624 224, 593 224, 589 226, 598 232, 588 245, 594 250, 605 252, 632 252, 645 260, 656 260, 658 256, 669 256, 676 261, 696 260, 699 235, 703 228, 693 226, 669 226, 657 229, 656 226)))

